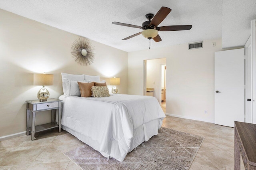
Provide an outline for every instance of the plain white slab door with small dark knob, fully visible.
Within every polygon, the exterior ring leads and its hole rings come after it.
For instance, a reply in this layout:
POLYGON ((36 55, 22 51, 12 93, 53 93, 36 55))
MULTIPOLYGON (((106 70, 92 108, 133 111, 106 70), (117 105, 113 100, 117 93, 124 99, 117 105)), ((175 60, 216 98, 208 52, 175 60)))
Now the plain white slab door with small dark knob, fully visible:
POLYGON ((215 124, 244 122, 244 48, 215 52, 215 124))

